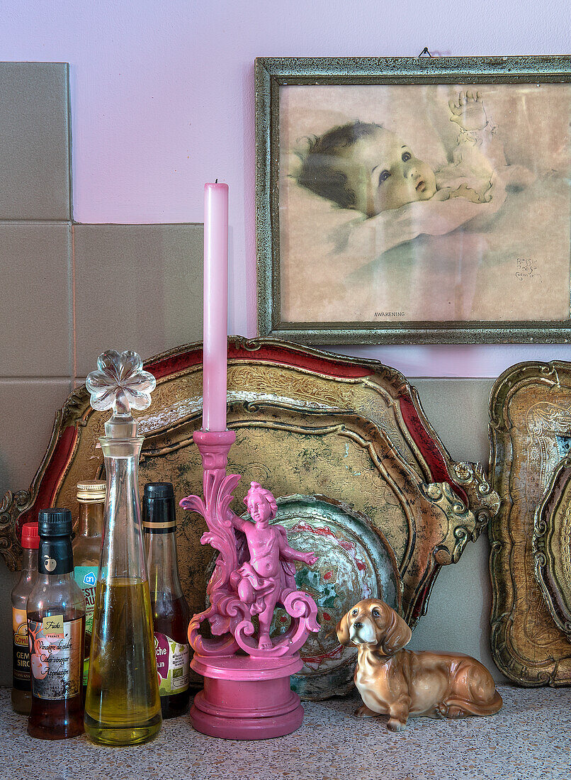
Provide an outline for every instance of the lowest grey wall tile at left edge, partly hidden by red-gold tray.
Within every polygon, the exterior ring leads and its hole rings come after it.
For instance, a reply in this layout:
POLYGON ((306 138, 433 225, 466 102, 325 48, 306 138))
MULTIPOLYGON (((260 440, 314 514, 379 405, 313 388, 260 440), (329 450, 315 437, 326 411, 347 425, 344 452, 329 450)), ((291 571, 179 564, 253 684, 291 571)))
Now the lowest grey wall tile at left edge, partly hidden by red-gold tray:
POLYGON ((27 490, 48 449, 66 380, 0 380, 0 496, 27 490))

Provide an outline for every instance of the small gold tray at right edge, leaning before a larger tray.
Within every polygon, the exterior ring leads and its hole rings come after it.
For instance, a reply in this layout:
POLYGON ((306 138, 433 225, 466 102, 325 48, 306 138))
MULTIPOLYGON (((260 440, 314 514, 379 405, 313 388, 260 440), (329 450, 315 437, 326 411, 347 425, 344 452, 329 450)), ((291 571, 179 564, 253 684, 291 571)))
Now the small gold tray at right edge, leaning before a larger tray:
MULTIPOLYGON (((571 431, 569 431, 571 434, 571 431)), ((571 457, 555 469, 535 512, 535 576, 555 625, 571 641, 571 457)))

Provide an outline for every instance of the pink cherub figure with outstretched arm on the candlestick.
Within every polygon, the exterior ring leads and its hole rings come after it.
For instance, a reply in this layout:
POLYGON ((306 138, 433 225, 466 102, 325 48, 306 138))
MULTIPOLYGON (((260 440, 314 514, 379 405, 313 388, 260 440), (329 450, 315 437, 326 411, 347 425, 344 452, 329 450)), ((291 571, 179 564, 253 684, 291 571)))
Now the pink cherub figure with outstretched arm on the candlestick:
POLYGON ((287 594, 296 590, 292 562, 302 561, 313 566, 317 556, 292 549, 287 544, 285 528, 270 526, 270 519, 276 516, 277 503, 269 490, 252 482, 244 503, 253 523, 238 517, 230 509, 227 519, 245 535, 250 560, 231 573, 230 584, 238 591, 241 601, 250 605, 250 614, 259 615, 259 649, 270 650, 273 610, 278 602, 283 603, 287 594))

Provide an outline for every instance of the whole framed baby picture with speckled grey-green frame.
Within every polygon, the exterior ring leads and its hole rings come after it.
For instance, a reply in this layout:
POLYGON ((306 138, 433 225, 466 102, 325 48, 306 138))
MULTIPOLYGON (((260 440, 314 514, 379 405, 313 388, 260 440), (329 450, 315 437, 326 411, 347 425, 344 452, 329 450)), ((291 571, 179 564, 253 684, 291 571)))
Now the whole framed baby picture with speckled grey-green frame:
POLYGON ((571 337, 571 59, 258 58, 259 334, 571 337))

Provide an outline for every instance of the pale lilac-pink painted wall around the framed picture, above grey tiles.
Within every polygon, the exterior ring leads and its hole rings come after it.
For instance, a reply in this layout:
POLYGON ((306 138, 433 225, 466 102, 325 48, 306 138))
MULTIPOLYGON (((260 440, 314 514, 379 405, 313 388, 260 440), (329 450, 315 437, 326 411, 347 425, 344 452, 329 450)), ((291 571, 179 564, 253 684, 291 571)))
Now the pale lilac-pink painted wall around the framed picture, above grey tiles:
MULTIPOLYGON (((203 183, 231 189, 231 332, 256 332, 256 56, 562 54, 567 0, 4 0, 5 60, 71 66, 74 217, 202 222, 203 183)), ((409 376, 495 377, 571 346, 342 351, 409 376)))

